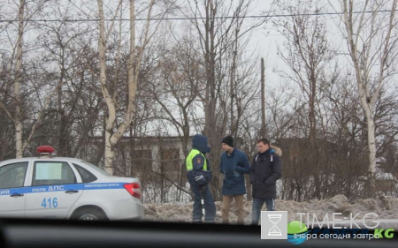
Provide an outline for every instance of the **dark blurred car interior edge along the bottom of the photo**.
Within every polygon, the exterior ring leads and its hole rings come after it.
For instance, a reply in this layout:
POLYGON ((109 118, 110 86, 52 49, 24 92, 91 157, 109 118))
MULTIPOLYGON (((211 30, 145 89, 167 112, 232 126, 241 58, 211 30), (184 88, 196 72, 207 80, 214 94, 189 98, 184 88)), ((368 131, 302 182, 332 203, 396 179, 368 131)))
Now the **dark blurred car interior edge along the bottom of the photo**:
MULTIPOLYGON (((394 233, 394 237, 397 237, 394 233)), ((396 247, 396 239, 312 239, 298 247, 396 247)), ((176 222, 0 219, 0 247, 292 247, 261 239, 261 226, 176 222)))

